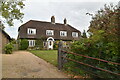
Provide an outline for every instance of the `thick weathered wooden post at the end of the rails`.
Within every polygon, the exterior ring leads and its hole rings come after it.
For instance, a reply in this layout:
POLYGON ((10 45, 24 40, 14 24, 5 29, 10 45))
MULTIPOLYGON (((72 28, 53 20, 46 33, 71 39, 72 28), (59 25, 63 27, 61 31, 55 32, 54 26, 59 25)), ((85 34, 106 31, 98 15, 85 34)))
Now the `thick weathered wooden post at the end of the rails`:
POLYGON ((60 41, 58 44, 58 69, 62 69, 62 42, 60 41))

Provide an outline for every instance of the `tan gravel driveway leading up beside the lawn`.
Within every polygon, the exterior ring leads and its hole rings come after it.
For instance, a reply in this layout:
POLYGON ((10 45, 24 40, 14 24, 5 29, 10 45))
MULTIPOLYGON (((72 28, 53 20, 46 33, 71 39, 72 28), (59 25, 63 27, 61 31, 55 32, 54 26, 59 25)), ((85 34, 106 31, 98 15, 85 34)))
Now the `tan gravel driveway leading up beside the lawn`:
POLYGON ((2 55, 3 78, 67 78, 64 73, 27 51, 2 55))

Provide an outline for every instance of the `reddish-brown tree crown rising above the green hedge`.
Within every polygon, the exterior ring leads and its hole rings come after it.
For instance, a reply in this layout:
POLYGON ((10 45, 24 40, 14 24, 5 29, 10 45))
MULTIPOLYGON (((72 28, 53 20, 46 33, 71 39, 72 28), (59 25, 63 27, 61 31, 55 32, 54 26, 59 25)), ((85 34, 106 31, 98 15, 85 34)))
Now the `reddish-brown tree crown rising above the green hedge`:
POLYGON ((119 28, 120 8, 117 6, 105 5, 104 9, 98 10, 97 14, 92 16, 89 30, 93 34, 97 30, 104 30, 107 34, 117 34, 119 28))

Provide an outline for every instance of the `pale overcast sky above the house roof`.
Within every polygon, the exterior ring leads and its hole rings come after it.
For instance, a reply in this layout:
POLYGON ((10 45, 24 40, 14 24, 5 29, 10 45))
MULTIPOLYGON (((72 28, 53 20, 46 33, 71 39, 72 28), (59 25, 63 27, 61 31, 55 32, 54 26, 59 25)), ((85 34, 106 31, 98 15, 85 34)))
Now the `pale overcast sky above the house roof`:
POLYGON ((119 0, 25 0, 23 23, 14 21, 14 26, 5 25, 5 31, 11 38, 17 39, 18 27, 29 20, 51 21, 55 16, 56 23, 63 23, 64 18, 67 24, 83 32, 88 30, 91 16, 86 13, 95 14, 104 4, 118 4, 119 0), (114 2, 113 2, 114 1, 114 2))

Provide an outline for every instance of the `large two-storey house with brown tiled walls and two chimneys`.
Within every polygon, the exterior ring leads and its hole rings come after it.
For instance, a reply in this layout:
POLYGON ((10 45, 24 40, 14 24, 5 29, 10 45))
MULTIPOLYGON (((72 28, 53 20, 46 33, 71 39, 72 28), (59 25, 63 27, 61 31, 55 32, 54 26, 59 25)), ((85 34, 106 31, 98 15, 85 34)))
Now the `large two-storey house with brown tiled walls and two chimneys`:
POLYGON ((79 40, 81 32, 71 25, 55 23, 55 17, 51 17, 51 22, 30 20, 21 25, 18 29, 18 39, 27 39, 29 47, 35 46, 35 41, 44 37, 43 47, 53 49, 55 42, 63 41, 65 44, 73 40, 79 40))

